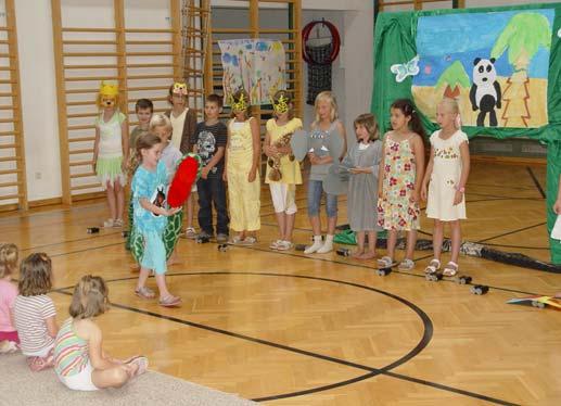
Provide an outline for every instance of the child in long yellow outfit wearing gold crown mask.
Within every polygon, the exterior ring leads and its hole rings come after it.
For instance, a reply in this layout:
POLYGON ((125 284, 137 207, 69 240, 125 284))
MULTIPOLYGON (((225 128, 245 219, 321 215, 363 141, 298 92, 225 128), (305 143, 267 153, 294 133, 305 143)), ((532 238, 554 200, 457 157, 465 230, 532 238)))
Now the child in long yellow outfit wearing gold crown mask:
POLYGON ((243 89, 230 98, 232 119, 228 123, 226 168, 230 228, 237 233, 231 243, 253 245, 259 219, 260 185, 257 165, 260 155, 259 123, 251 116, 250 96, 243 89))

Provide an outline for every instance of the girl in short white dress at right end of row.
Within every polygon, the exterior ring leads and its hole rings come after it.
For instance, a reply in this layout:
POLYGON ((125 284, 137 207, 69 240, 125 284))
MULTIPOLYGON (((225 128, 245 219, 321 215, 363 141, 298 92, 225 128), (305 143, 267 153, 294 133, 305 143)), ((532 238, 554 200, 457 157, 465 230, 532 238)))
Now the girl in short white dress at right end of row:
POLYGON ((450 225, 451 258, 444 267, 445 276, 458 272, 461 244, 460 219, 466 218, 466 182, 470 173, 468 136, 461 130, 458 102, 445 98, 436 107, 436 122, 441 129, 431 136, 431 155, 421 188, 421 199, 426 201, 426 217, 434 218, 433 252, 425 272, 441 268, 444 223, 450 225))

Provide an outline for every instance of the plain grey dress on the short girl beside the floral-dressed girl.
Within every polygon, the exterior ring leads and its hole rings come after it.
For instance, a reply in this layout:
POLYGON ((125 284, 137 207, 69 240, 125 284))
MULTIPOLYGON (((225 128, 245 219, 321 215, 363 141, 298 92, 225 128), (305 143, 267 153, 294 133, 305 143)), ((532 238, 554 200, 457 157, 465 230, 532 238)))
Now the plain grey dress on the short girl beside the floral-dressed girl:
POLYGON ((371 167, 371 174, 350 174, 348 180, 347 216, 353 231, 381 231, 378 226, 378 166, 382 157, 382 141, 375 140, 365 150, 358 143, 345 156, 347 167, 371 167))

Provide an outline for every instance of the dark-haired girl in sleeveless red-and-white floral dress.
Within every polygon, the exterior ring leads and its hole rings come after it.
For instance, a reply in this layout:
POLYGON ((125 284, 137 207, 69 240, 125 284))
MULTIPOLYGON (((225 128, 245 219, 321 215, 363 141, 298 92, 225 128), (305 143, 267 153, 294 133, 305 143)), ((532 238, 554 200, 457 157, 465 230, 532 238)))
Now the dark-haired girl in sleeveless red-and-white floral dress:
POLYGON ((413 251, 419 225, 419 199, 423 180, 425 132, 413 104, 396 100, 391 107, 392 131, 384 136, 378 190, 378 224, 387 230, 387 253, 378 259, 380 267, 394 263, 397 232, 407 231, 405 259, 399 269, 415 267, 413 251))

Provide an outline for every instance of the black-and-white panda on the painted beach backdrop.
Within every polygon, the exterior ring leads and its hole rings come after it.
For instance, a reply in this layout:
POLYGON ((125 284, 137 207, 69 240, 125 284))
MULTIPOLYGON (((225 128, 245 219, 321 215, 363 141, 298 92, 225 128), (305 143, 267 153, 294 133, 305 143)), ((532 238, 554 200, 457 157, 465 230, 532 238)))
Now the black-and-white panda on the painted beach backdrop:
POLYGON ((480 111, 477 127, 483 127, 485 117, 489 113, 489 126, 497 126, 497 113, 500 109, 500 85, 497 81, 495 58, 489 60, 475 58, 473 60, 473 85, 470 90, 470 101, 473 111, 480 111))

